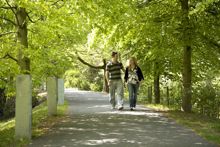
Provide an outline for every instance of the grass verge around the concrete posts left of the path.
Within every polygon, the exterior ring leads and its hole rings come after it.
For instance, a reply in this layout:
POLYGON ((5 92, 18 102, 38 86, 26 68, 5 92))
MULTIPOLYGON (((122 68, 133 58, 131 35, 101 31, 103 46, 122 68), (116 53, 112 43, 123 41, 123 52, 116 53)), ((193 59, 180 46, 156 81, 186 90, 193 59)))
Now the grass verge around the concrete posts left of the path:
MULTIPOLYGON (((56 116, 47 115, 47 104, 46 102, 35 107, 33 109, 32 116, 32 138, 45 134, 54 124, 59 122, 66 113, 67 102, 63 106, 58 106, 58 112, 56 116)), ((23 147, 29 143, 27 139, 16 140, 15 134, 15 119, 7 121, 0 121, 0 147, 23 147)))

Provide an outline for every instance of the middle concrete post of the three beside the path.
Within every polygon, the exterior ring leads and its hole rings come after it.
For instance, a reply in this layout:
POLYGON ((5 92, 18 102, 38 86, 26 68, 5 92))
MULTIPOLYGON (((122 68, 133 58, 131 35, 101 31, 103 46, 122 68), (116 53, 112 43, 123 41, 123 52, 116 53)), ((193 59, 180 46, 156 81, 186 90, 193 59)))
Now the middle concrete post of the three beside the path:
POLYGON ((47 106, 48 115, 57 114, 57 78, 48 77, 47 78, 47 106))

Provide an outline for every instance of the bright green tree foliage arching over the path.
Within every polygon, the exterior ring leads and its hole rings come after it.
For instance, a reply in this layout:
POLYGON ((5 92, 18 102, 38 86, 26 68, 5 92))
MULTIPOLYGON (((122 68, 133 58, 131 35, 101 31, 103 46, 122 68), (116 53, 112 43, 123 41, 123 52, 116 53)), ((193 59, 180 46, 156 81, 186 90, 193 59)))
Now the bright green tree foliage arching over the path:
MULTIPOLYGON (((117 50, 122 62, 130 56, 138 59, 146 77, 141 90, 143 95, 146 95, 147 87, 153 85, 155 75, 159 75, 162 103, 168 102, 165 89, 168 87, 169 105, 180 109, 185 93, 183 47, 190 44, 192 77, 189 78, 192 78, 194 111, 200 112, 204 103, 212 109, 214 100, 219 99, 219 96, 202 97, 206 94, 200 93, 206 86, 204 81, 208 78, 216 80, 220 74, 219 0, 189 0, 187 26, 183 23, 179 0, 9 2, 11 6, 23 7, 29 12, 29 47, 23 52, 31 60, 34 88, 39 88, 48 76, 65 76, 67 87, 100 91, 103 73, 76 66, 79 64, 76 52, 89 63, 100 65, 103 59, 110 59, 112 50, 117 50), (185 30, 190 30, 190 37, 185 30), (164 79, 170 84, 166 85, 164 79)), ((6 88, 8 95, 15 91, 13 83, 19 66, 14 58, 20 46, 16 41, 17 28, 10 21, 16 19, 13 12, 4 8, 8 7, 6 1, 1 1, 0 7, 0 88, 6 88), (9 34, 3 35, 5 33, 9 34)), ((214 89, 218 94, 219 85, 214 89)), ((219 109, 218 105, 215 107, 213 114, 219 109)))

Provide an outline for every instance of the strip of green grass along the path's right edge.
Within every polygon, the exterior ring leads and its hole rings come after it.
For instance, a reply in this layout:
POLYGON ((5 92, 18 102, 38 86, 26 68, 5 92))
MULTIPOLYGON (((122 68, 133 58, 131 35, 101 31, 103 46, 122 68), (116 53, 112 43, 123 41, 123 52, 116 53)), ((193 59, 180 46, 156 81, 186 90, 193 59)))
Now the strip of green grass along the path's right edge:
POLYGON ((196 113, 184 113, 170 110, 162 105, 146 105, 156 111, 164 112, 164 115, 174 119, 178 124, 192 129, 196 134, 206 140, 220 145, 220 120, 205 117, 196 113))

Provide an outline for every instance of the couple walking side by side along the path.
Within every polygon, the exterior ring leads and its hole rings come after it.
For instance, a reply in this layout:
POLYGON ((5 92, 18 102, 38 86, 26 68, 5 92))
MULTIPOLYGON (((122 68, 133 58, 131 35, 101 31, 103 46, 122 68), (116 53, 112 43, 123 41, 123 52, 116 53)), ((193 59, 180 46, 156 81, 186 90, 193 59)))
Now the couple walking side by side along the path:
POLYGON ((118 52, 112 52, 112 60, 106 66, 106 79, 109 85, 110 103, 112 109, 115 109, 116 105, 118 110, 123 110, 124 108, 124 87, 121 78, 121 71, 124 71, 124 80, 129 91, 130 109, 134 110, 136 107, 138 89, 144 77, 134 57, 129 59, 129 65, 126 69, 124 69, 123 64, 118 61, 118 58, 118 52))

